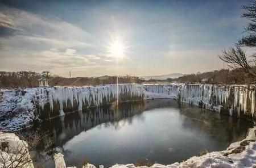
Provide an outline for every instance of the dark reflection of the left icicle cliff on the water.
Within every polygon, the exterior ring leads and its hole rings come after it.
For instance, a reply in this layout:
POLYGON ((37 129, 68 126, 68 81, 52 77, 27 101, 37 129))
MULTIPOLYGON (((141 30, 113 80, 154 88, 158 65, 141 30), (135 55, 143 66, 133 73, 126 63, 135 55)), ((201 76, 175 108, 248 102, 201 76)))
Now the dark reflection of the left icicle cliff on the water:
POLYGON ((53 133, 53 140, 56 146, 62 146, 72 137, 82 131, 100 125, 100 127, 114 127, 120 129, 123 124, 132 124, 134 115, 143 121, 143 111, 160 108, 176 107, 178 104, 173 100, 146 100, 145 102, 133 102, 121 104, 118 108, 113 106, 103 106, 90 108, 84 111, 74 112, 72 114, 57 117, 51 120, 43 121, 40 130, 53 133), (122 124, 119 122, 122 120, 122 124))

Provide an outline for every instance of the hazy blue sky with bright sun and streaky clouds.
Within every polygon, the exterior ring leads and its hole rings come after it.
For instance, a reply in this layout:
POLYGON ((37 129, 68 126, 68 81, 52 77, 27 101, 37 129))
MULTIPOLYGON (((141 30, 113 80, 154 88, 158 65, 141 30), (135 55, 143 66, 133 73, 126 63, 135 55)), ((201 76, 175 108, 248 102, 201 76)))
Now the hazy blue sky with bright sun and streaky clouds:
POLYGON ((0 0, 0 70, 65 77, 197 73, 243 35, 249 1, 0 0))

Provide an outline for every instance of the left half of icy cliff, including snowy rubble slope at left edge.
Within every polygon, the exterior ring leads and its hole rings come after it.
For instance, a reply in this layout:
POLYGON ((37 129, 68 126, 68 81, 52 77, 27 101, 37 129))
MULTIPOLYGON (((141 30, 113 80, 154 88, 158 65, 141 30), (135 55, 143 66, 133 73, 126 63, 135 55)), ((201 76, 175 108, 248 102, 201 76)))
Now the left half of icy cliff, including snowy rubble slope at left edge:
POLYGON ((40 119, 117 102, 143 100, 135 83, 83 87, 37 87, 0 90, 0 131, 19 131, 40 119))

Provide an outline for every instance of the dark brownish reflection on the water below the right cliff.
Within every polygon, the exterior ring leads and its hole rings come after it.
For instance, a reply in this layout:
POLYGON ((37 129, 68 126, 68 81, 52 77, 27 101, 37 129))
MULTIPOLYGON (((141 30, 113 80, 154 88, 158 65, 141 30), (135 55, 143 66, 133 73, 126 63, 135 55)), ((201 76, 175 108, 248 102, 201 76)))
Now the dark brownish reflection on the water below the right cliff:
MULTIPOLYGON (((183 127, 190 131, 207 133, 216 141, 226 141, 226 144, 242 139, 246 135, 247 127, 253 123, 245 119, 223 116, 219 113, 200 108, 183 105, 180 108, 183 117, 183 127), (191 127, 193 125, 193 128, 191 127)), ((210 146, 209 146, 210 147, 210 146)))

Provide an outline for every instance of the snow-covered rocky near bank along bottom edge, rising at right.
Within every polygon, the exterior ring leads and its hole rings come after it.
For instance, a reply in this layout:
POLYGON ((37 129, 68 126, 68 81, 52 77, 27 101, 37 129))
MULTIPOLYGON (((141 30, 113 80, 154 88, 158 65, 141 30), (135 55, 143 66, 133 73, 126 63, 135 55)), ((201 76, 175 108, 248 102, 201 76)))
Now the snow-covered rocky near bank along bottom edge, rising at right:
MULTIPOLYGON (((151 168, 187 168, 187 167, 254 167, 256 166, 256 127, 250 128, 247 137, 239 142, 234 142, 221 152, 211 152, 203 156, 194 156, 181 163, 171 165, 154 164, 151 168)), ((65 168, 65 161, 62 154, 55 155, 56 168, 65 168)), ((103 167, 103 166, 101 166, 103 167)), ((113 165, 111 168, 135 168, 133 164, 113 165)), ((147 168, 147 166, 141 166, 147 168)), ((96 168, 87 164, 84 168, 96 168)), ((138 168, 138 167, 137 167, 138 168)))

